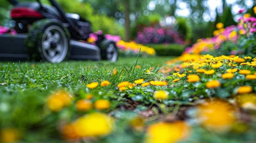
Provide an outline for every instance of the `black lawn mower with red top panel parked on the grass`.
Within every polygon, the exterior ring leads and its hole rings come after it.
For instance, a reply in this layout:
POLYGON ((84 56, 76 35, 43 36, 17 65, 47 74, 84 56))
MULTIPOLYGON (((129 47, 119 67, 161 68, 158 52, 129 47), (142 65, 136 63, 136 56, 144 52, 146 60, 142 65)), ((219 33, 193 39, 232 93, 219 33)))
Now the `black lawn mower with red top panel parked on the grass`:
POLYGON ((115 42, 97 34, 95 44, 86 42, 92 33, 89 21, 75 13, 65 13, 55 0, 50 5, 18 2, 10 10, 15 35, 0 35, 0 60, 34 60, 59 63, 65 59, 109 60, 115 62, 115 42))

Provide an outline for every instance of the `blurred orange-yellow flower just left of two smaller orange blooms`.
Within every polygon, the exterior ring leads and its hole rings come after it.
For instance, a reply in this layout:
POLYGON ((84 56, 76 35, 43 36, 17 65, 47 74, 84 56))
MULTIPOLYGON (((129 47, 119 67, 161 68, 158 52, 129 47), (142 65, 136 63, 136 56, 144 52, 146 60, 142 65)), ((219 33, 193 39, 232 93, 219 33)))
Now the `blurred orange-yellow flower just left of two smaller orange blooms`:
POLYGON ((53 92, 47 99, 47 106, 52 111, 58 112, 71 104, 72 96, 64 90, 53 92))

